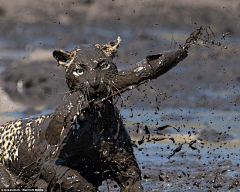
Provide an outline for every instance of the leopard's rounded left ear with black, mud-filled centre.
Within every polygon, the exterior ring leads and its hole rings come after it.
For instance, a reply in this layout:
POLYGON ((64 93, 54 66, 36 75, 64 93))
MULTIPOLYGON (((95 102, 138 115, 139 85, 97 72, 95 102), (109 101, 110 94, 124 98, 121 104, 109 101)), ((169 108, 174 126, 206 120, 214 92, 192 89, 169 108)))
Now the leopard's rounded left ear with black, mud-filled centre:
POLYGON ((68 52, 61 49, 53 51, 53 57, 58 61, 59 65, 62 65, 65 69, 73 62, 76 56, 76 51, 68 52))

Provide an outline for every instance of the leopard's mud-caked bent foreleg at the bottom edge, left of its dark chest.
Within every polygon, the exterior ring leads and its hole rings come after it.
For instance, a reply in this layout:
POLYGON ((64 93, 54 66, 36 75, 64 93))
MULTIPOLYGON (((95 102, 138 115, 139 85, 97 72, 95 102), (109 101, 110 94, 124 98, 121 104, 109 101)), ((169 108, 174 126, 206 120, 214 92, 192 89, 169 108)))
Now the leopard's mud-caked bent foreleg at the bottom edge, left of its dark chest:
POLYGON ((42 175, 49 181, 48 190, 51 192, 89 191, 96 192, 97 187, 83 178, 78 171, 67 166, 46 162, 42 175))

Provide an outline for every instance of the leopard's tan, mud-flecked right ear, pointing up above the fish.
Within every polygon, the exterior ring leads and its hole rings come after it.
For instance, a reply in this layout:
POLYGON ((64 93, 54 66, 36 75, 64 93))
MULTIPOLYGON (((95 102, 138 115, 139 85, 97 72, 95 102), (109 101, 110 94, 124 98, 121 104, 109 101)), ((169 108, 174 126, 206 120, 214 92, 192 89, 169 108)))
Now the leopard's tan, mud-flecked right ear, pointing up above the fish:
POLYGON ((111 41, 104 45, 95 44, 95 46, 101 49, 108 57, 114 58, 117 54, 117 49, 121 44, 122 39, 118 36, 116 40, 111 41))

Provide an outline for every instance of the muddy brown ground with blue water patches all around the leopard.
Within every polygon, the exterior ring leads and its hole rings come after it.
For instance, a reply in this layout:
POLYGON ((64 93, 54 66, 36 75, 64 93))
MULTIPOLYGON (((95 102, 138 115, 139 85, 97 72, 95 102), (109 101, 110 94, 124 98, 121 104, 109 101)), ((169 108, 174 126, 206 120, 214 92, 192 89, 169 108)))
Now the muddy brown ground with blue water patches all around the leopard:
MULTIPOLYGON (((145 191, 238 191, 239 8, 238 0, 2 2, 0 123, 51 112, 60 103, 67 87, 54 49, 121 36, 116 63, 122 69, 184 44, 192 31, 209 25, 221 46, 191 47, 167 74, 124 93, 120 109, 138 146, 145 191), (231 37, 223 38, 226 32, 231 37), (154 131, 163 125, 180 131, 154 131), (151 138, 165 139, 139 143, 146 126, 151 138), (193 140, 195 150, 188 144, 193 140), (182 150, 169 159, 179 144, 182 150)), ((119 190, 109 183, 110 191, 119 190)), ((100 189, 107 191, 107 184, 100 189)))

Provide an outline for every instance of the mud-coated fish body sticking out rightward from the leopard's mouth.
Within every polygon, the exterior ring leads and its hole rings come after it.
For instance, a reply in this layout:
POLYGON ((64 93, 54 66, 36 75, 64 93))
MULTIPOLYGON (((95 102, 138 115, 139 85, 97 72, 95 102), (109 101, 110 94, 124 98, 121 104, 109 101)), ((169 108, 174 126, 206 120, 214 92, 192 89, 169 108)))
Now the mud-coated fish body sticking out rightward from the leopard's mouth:
POLYGON ((175 67, 188 55, 187 50, 180 48, 164 54, 149 55, 146 59, 137 64, 119 71, 110 78, 110 83, 114 84, 116 93, 133 89, 147 80, 155 79, 163 75, 171 68, 175 67))

